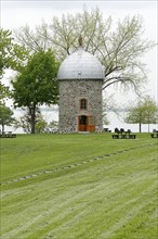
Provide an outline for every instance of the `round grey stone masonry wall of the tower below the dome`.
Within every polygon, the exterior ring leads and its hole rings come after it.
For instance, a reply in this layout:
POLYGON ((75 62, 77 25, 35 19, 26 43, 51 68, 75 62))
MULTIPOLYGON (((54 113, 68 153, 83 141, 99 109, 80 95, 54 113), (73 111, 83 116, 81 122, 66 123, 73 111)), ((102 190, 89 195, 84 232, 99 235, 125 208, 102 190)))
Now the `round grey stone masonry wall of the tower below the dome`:
POLYGON ((78 131, 78 116, 95 117, 96 130, 102 130, 102 80, 60 80, 60 131, 78 131), (80 110, 80 100, 88 100, 88 110, 80 110))

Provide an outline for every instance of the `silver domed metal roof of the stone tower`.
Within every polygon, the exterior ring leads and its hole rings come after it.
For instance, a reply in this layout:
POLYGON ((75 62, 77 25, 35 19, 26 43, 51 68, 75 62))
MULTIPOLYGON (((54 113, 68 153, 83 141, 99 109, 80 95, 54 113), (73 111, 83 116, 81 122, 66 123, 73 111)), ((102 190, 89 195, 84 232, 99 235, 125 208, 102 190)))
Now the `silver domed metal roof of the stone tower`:
POLYGON ((94 55, 85 52, 80 46, 76 52, 63 61, 57 78, 61 80, 104 79, 104 68, 94 55))

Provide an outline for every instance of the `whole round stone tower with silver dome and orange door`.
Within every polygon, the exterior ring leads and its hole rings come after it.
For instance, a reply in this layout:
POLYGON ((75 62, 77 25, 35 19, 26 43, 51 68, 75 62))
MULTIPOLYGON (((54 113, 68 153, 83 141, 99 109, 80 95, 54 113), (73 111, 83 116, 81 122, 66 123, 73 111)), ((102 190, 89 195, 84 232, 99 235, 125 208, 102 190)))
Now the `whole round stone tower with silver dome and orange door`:
POLYGON ((60 66, 60 131, 102 130, 102 85, 100 61, 82 48, 68 55, 60 66))

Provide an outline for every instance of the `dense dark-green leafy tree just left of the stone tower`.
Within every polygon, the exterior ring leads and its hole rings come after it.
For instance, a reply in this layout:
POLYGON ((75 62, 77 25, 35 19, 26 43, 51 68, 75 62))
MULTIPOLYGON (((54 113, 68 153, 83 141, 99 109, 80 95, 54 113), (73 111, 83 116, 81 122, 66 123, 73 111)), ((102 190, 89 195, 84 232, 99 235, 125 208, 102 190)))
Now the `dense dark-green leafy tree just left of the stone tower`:
POLYGON ((36 131, 39 106, 56 104, 58 101, 57 70, 58 63, 53 52, 39 50, 32 54, 15 80, 12 80, 14 106, 25 106, 28 110, 31 134, 36 131))

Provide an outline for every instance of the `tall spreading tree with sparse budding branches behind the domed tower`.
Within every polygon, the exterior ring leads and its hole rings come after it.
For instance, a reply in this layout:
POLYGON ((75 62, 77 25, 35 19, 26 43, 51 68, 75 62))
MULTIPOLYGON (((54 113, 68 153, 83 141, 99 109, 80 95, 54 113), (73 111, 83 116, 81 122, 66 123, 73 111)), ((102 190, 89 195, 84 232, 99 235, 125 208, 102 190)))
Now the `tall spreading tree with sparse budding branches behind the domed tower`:
POLYGON ((91 12, 84 9, 75 15, 63 14, 62 18, 54 17, 51 25, 43 22, 35 30, 22 27, 16 37, 32 51, 52 47, 62 61, 78 48, 81 34, 84 49, 96 55, 105 67, 103 89, 121 84, 137 91, 146 79, 142 56, 154 46, 143 33, 143 21, 139 15, 127 16, 115 27, 111 17, 105 21, 96 8, 91 12))

